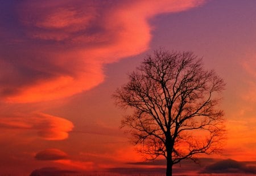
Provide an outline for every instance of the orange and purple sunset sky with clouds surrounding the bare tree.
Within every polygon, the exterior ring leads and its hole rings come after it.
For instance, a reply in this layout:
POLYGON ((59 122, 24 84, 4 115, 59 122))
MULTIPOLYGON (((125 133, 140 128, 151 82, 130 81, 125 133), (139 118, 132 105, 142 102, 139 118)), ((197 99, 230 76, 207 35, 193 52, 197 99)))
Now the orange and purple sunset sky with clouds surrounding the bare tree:
POLYGON ((193 51, 226 82, 222 153, 175 173, 256 173, 256 1, 0 2, 0 175, 164 173, 111 98, 160 47, 193 51))

